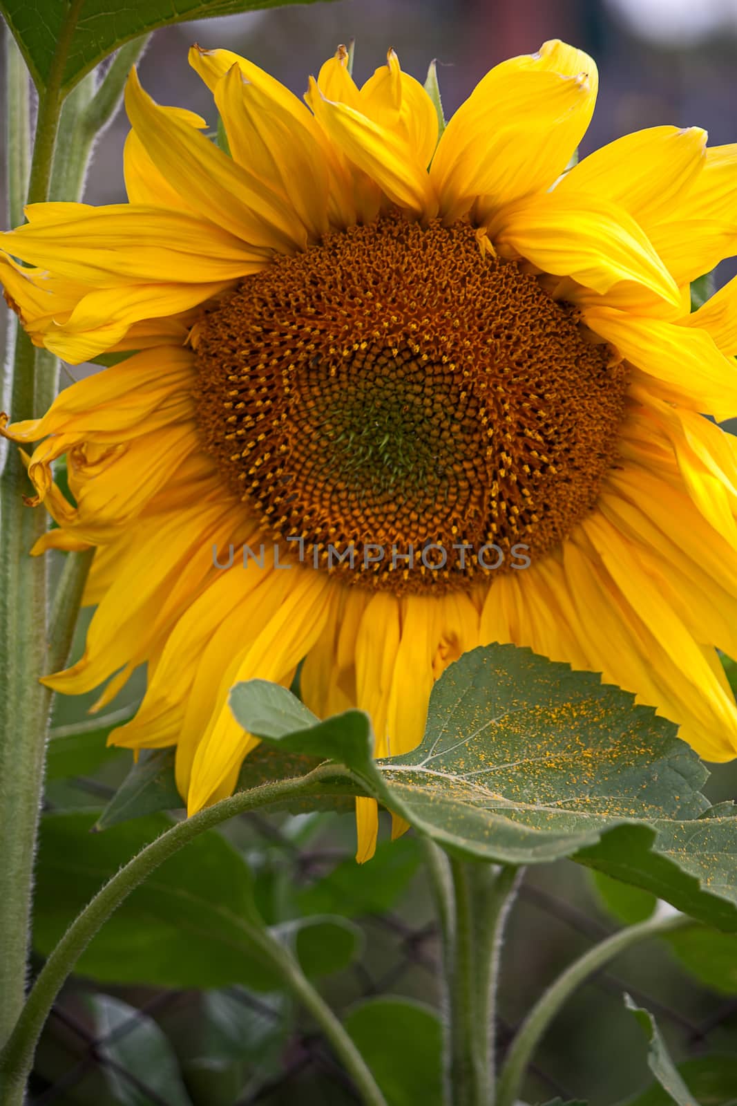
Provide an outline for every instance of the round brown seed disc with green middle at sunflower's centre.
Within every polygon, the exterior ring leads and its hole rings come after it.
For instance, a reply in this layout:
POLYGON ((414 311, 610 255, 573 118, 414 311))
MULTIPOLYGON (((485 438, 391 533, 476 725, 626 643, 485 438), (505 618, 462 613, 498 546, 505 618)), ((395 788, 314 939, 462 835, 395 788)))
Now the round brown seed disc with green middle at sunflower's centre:
POLYGON ((204 448, 264 535, 398 593, 560 542, 615 458, 628 383, 466 221, 399 215, 246 278, 197 357, 204 448))

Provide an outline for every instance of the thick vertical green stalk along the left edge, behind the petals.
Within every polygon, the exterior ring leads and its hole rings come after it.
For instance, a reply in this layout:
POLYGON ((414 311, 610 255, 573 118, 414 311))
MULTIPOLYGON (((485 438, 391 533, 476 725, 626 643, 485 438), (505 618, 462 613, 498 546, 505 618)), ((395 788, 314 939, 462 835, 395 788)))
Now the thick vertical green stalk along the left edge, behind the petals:
MULTIPOLYGON (((8 191, 18 216, 28 175, 28 73, 6 32, 8 191), (12 86, 11 86, 12 82, 12 86)), ((4 362, 3 403, 20 417, 33 414, 34 351, 25 333, 9 320, 12 357, 4 362)), ((39 688, 39 661, 46 646, 45 566, 28 552, 43 532, 40 512, 23 504, 30 486, 19 451, 8 449, 0 478, 0 1044, 23 1003, 28 962, 31 874, 49 697, 39 688)))

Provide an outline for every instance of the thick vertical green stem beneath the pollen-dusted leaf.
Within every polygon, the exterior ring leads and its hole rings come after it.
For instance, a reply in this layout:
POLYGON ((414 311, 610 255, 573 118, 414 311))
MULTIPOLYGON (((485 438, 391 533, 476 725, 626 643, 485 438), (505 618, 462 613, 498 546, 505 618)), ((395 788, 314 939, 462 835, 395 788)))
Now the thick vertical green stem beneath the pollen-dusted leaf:
POLYGON ((491 1106, 499 952, 520 872, 449 858, 431 843, 425 859, 443 947, 445 1102, 491 1106))

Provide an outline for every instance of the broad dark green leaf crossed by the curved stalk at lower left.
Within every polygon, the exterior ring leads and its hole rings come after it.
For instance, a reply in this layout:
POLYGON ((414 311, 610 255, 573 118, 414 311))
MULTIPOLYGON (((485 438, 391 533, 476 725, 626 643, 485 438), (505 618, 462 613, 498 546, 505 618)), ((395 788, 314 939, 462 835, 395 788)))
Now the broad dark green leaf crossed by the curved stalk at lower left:
MULTIPOLYGON (((91 833, 94 816, 43 818, 36 866, 33 943, 44 956, 119 867, 171 825, 157 815, 91 833)), ((273 991, 280 977, 253 942, 264 924, 252 877, 218 833, 196 837, 136 888, 77 962, 81 974, 107 983, 225 987, 273 991)), ((360 931, 346 918, 316 917, 274 930, 309 975, 345 968, 360 951, 360 931)))

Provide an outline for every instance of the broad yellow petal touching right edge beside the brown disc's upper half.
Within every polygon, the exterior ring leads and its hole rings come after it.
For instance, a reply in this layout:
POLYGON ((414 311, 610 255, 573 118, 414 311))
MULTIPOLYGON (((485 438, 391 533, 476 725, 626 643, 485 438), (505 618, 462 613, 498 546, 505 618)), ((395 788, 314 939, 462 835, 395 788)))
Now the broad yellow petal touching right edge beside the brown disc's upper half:
POLYGON ((612 307, 585 312, 588 326, 659 382, 659 394, 692 410, 729 418, 737 413, 737 365, 706 331, 660 319, 636 319, 612 307))

